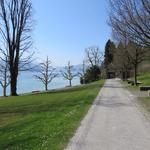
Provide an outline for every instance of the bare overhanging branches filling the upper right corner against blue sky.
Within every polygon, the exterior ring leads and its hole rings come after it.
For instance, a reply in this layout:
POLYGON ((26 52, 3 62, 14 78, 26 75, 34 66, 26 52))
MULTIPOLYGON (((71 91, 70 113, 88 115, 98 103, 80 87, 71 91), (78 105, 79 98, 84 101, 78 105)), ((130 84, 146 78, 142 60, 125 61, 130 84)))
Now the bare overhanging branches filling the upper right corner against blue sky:
POLYGON ((150 1, 109 0, 109 24, 114 35, 150 47, 150 1), (134 39, 133 39, 134 37, 134 39))

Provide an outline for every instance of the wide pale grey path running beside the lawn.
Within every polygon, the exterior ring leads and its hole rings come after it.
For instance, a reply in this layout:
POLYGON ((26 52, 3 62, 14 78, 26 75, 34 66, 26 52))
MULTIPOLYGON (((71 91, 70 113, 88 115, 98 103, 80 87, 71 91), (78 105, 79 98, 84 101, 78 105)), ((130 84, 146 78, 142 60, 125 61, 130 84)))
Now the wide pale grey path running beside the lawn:
POLYGON ((66 150, 150 150, 150 124, 118 80, 107 80, 66 150))

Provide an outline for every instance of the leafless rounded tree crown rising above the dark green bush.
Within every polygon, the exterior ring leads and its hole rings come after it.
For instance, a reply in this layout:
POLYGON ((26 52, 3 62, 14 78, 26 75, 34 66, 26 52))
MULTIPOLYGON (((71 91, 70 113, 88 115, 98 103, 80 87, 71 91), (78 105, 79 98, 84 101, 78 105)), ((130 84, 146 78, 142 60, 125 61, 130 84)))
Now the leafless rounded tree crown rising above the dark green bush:
POLYGON ((98 46, 92 46, 85 50, 87 62, 93 66, 99 66, 102 62, 103 54, 98 46))

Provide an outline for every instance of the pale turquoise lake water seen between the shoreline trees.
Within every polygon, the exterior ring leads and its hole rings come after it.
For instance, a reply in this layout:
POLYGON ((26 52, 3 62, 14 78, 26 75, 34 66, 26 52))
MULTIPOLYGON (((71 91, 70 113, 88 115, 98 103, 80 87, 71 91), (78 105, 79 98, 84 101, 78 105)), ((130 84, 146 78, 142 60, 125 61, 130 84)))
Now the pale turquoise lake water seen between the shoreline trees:
MULTIPOLYGON (((21 93, 28 93, 32 91, 43 91, 44 85, 34 76, 35 73, 25 72, 21 73, 18 78, 18 87, 17 91, 19 94, 21 93)), ((62 77, 58 77, 53 79, 53 81, 49 84, 49 89, 57 89, 66 87, 69 84, 67 80, 64 80, 62 77)), ((80 80, 79 78, 75 78, 72 81, 72 85, 79 85, 80 80)), ((7 94, 10 94, 10 87, 7 88, 7 94)), ((0 95, 2 95, 2 88, 0 87, 0 95)))

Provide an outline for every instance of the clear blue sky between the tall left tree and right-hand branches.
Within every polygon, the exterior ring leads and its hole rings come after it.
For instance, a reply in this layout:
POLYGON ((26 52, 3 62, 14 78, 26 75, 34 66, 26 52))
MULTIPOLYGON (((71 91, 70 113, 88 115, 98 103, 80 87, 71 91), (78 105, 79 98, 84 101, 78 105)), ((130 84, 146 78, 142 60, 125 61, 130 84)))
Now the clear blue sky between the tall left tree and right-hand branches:
POLYGON ((56 66, 81 64, 85 48, 104 50, 111 37, 107 0, 32 0, 33 41, 38 60, 47 56, 56 66))

